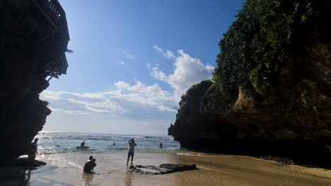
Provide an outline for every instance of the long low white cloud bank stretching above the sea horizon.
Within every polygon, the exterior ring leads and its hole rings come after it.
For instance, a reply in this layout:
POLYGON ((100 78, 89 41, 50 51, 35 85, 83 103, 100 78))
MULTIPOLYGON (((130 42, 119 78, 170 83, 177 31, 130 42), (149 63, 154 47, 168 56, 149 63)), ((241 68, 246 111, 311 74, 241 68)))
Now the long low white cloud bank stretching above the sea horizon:
POLYGON ((108 113, 125 114, 137 107, 148 107, 158 111, 175 112, 178 104, 172 94, 157 84, 146 86, 136 80, 135 85, 116 82, 115 90, 109 92, 76 93, 45 90, 42 99, 50 101, 53 111, 72 114, 108 113))

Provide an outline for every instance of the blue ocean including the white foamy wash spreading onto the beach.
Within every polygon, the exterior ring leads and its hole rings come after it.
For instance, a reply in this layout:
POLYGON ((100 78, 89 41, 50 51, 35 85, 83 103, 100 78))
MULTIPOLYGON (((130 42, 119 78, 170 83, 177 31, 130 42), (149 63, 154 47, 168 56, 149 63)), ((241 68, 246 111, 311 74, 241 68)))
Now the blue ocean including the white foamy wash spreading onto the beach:
POLYGON ((189 153, 185 149, 180 149, 179 142, 173 141, 173 137, 170 136, 41 131, 36 137, 39 139, 37 160, 46 162, 49 168, 65 168, 74 174, 81 173, 89 156, 96 159, 98 168, 95 170, 98 170, 98 173, 108 173, 109 170, 116 173, 121 170, 127 163, 128 141, 132 138, 137 144, 134 150, 134 163, 148 162, 158 165, 171 162, 169 156, 189 153), (83 141, 89 148, 76 149, 83 141), (160 143, 163 144, 162 148, 159 147, 160 143), (106 162, 112 162, 111 169, 106 162))

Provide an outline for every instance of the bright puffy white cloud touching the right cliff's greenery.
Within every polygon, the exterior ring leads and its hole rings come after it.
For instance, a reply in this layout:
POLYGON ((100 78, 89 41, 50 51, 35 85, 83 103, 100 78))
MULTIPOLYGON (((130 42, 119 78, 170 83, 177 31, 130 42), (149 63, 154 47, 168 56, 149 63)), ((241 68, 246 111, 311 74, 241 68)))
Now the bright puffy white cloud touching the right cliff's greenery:
POLYGON ((168 51, 164 53, 163 49, 156 45, 153 48, 165 57, 171 56, 169 58, 174 59, 175 70, 172 74, 166 75, 158 67, 152 67, 151 63, 146 63, 146 68, 151 70, 151 77, 167 82, 177 93, 185 93, 192 85, 212 77, 213 66, 204 65, 199 58, 193 58, 183 50, 178 50, 178 56, 176 57, 172 52, 167 55, 168 51))

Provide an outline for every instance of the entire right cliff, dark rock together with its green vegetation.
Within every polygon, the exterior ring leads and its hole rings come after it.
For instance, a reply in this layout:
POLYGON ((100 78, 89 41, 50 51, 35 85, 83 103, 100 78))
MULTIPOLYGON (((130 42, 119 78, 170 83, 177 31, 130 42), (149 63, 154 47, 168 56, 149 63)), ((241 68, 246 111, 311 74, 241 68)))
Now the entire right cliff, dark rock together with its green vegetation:
POLYGON ((182 96, 182 148, 331 166, 330 1, 246 1, 212 80, 182 96))

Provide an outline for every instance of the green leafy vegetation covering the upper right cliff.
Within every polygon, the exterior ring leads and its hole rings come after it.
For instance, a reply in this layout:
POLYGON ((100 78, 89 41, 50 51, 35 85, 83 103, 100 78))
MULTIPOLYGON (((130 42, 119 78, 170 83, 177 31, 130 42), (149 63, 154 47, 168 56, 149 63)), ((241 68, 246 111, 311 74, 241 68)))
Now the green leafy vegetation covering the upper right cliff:
POLYGON ((320 2, 246 1, 219 42, 214 85, 207 92, 210 101, 234 101, 238 87, 260 95, 272 90, 306 27, 320 16, 320 2))

